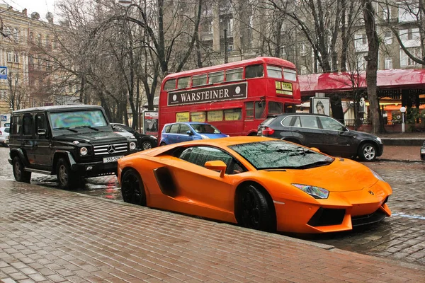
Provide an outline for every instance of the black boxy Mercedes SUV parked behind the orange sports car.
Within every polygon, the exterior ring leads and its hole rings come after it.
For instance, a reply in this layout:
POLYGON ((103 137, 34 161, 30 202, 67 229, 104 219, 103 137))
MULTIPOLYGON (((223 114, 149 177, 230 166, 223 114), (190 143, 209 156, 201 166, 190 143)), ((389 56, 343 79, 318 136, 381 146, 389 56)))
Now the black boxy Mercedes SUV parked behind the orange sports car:
POLYGON ((118 158, 137 152, 136 143, 113 132, 101 106, 28 108, 12 112, 8 161, 18 182, 43 173, 71 189, 84 178, 116 174, 118 158))

